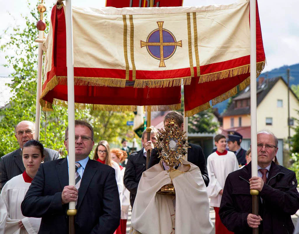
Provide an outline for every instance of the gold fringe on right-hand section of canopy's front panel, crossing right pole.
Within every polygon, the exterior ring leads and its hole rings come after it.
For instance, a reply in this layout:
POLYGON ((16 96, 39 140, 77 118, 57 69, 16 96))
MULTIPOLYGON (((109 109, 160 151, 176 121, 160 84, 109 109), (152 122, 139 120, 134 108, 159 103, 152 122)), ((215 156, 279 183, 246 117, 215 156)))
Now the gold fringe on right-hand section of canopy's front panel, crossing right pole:
MULTIPOLYGON (((266 59, 262 62, 257 62, 257 77, 262 73, 263 69, 265 68, 265 64, 266 64, 266 59)), ((239 66, 237 68, 200 75, 199 83, 215 81, 218 79, 225 79, 228 77, 234 77, 249 72, 250 72, 250 64, 247 64, 247 65, 239 66)))

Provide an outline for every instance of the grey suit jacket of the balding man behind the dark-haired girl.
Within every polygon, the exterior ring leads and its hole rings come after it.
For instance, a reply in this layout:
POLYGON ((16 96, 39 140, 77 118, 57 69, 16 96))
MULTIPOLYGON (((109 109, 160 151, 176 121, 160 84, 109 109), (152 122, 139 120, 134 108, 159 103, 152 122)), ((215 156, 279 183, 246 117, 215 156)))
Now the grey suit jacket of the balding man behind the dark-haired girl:
MULTIPOLYGON (((58 151, 44 148, 44 162, 52 161, 59 158, 58 151)), ((21 175, 25 171, 22 160, 21 149, 16 149, 0 158, 0 184, 1 188, 11 178, 21 175)))

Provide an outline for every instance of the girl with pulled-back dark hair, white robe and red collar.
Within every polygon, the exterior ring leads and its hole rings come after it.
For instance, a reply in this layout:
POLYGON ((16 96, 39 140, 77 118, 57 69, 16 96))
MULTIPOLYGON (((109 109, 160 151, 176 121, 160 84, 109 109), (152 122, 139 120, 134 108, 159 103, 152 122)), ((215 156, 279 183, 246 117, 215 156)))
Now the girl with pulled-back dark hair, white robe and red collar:
POLYGON ((35 234, 39 231, 41 218, 24 217, 21 212, 21 203, 39 165, 44 160, 42 143, 37 140, 27 141, 22 148, 22 159, 25 171, 7 181, 0 194, 5 204, 0 207, 0 217, 2 213, 7 213, 4 233, 35 234))

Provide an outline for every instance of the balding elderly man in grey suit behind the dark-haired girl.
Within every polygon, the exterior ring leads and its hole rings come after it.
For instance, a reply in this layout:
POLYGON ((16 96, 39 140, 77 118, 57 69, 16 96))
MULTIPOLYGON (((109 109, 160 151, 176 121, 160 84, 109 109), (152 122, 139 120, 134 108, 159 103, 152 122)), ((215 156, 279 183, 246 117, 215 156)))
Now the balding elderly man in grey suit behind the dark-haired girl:
MULTIPOLYGON (((21 121, 15 127, 15 137, 19 142, 19 149, 10 152, 0 158, 0 186, 11 178, 22 174, 25 171, 25 167, 22 160, 22 148, 26 141, 34 139, 35 125, 31 121, 21 121)), ((55 160, 59 157, 59 153, 56 150, 44 148, 44 162, 55 160)))

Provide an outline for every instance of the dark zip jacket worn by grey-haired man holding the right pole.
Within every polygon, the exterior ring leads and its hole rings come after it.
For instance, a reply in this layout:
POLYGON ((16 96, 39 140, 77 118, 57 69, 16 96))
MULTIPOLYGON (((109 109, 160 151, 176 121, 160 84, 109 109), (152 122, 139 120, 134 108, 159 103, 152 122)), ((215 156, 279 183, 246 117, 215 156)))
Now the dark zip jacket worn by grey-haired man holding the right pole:
MULTIPOLYGON (((251 163, 231 172, 225 181, 219 216, 227 229, 236 234, 252 233, 247 224, 247 216, 252 213, 250 178, 251 163)), ((272 162, 268 181, 259 195, 259 203, 259 215, 263 219, 259 234, 292 234, 294 225, 291 215, 299 209, 295 173, 272 162), (263 203, 260 198, 263 198, 263 203)))

